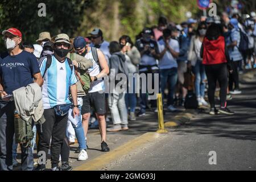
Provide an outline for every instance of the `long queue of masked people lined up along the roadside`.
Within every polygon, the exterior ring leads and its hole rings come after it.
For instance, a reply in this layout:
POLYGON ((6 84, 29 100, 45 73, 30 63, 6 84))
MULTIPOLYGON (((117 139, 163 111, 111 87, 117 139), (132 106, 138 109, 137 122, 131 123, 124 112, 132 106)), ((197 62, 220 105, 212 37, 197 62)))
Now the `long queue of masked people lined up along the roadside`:
POLYGON ((13 170, 18 164, 17 143, 22 170, 46 170, 42 162, 34 168, 35 146, 39 156, 42 152, 47 156, 50 148, 52 171, 71 170, 71 138, 76 136, 79 144, 78 160, 88 159, 86 135, 92 118, 97 119, 100 129, 101 151, 110 151, 107 131, 129 130, 129 121, 146 115, 148 108, 158 112, 156 100, 148 100, 151 93, 147 90, 149 82, 155 85, 156 74, 156 85, 167 101, 163 102, 164 113, 184 106, 192 91, 196 105, 210 106, 209 114, 234 114, 226 100, 232 99, 232 94, 241 94, 239 75, 243 70, 256 68, 255 23, 253 12, 247 19, 223 13, 221 18, 202 16, 181 24, 161 16, 158 26, 143 28, 134 42, 123 35, 110 43, 100 28, 94 28, 86 38, 73 39, 67 34, 52 38, 49 32, 42 32, 36 44, 24 42, 16 28, 3 31, 7 52, 1 53, 0 59, 0 170, 13 170), (135 92, 135 77, 133 89, 128 83, 126 92, 113 88, 110 94, 105 93, 104 78, 118 84, 118 73, 152 74, 142 84, 146 93, 135 92), (195 76, 192 90, 184 84, 186 73, 195 76), (20 134, 16 132, 19 119, 30 123, 26 130, 31 127, 32 138, 14 137, 20 134), (109 119, 113 126, 107 128, 109 119))

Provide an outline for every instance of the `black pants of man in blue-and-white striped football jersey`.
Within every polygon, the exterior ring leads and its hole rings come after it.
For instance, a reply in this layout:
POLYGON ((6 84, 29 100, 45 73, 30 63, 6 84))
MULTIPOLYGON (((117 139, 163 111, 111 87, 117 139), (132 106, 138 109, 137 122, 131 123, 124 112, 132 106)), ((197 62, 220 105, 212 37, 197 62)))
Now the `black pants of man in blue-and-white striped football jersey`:
POLYGON ((63 144, 67 130, 68 114, 59 117, 55 114, 54 109, 46 109, 44 110, 44 118, 46 118, 46 122, 42 125, 42 131, 40 126, 37 128, 39 133, 38 152, 44 151, 47 156, 52 138, 51 163, 52 168, 54 168, 59 164, 61 145, 63 144))

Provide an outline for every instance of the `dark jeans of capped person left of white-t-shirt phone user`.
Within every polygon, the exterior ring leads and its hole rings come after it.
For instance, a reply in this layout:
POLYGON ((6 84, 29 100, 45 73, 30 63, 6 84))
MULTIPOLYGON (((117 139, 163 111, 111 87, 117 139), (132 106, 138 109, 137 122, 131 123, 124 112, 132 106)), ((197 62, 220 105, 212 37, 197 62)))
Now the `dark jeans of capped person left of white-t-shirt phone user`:
MULTIPOLYGON (((139 106, 141 107, 141 113, 145 113, 146 112, 146 106, 147 106, 147 95, 148 95, 148 89, 147 89, 147 85, 148 85, 148 77, 147 77, 147 74, 150 73, 152 74, 152 89, 155 89, 154 88, 154 76, 155 74, 159 74, 159 70, 152 70, 151 72, 140 72, 140 74, 146 74, 146 82, 142 82, 142 87, 146 87, 146 90, 147 90, 147 93, 142 93, 140 92, 140 102, 139 102, 139 106)), ((159 84, 158 84, 159 86, 159 84)), ((142 91, 142 89, 141 89, 142 91)), ((153 94, 151 94, 153 95, 153 94)), ((151 107, 152 108, 156 108, 156 100, 150 100, 151 101, 151 107)))

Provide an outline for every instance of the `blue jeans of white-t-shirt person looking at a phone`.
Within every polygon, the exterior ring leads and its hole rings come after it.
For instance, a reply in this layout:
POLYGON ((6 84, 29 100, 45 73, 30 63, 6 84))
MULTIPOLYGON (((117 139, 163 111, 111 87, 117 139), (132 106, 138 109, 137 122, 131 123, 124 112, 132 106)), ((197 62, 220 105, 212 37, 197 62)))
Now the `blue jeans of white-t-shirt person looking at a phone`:
POLYGON ((177 68, 171 69, 162 69, 160 71, 160 78, 161 78, 161 90, 162 94, 164 95, 164 89, 166 88, 166 84, 168 82, 168 101, 167 105, 174 104, 174 93, 175 93, 175 86, 177 84, 177 68))

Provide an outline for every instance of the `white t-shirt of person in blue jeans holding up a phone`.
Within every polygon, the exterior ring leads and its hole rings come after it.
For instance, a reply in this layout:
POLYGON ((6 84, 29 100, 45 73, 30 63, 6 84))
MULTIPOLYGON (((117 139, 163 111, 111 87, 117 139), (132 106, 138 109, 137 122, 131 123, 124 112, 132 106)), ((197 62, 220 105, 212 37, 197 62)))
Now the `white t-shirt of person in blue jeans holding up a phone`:
MULTIPOLYGON (((166 44, 164 43, 164 40, 161 39, 158 42, 159 52, 163 52, 166 44)), ((175 52, 180 52, 179 48, 179 42, 175 39, 170 39, 169 45, 172 49, 174 49, 175 52)), ((159 67, 160 69, 171 69, 171 68, 177 68, 177 59, 172 56, 170 51, 166 51, 162 59, 159 61, 159 67)))

